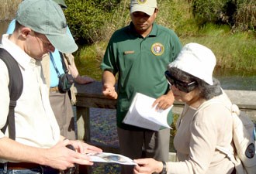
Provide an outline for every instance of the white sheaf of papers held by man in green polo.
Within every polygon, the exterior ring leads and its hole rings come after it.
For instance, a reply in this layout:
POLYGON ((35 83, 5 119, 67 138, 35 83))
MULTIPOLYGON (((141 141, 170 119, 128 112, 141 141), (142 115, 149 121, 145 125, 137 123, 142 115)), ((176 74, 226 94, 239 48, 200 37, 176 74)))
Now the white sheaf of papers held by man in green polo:
POLYGON ((156 110, 156 106, 152 107, 155 100, 153 97, 137 93, 133 98, 126 117, 123 119, 123 123, 154 131, 158 131, 161 126, 170 128, 167 118, 168 112, 173 105, 165 110, 156 110))

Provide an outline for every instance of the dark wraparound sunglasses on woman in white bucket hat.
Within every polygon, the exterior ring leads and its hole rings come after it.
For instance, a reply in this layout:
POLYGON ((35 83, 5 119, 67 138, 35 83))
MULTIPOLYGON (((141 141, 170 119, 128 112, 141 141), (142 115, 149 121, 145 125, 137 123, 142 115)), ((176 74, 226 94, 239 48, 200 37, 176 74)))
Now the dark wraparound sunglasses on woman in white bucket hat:
POLYGON ((181 90, 185 93, 189 93, 192 90, 195 90, 195 87, 197 87, 197 82, 196 81, 192 81, 192 82, 184 82, 182 80, 178 80, 175 77, 173 77, 171 75, 171 73, 169 73, 169 71, 165 71, 164 73, 166 79, 168 80, 168 84, 170 85, 175 85, 175 87, 178 88, 178 90, 181 90))

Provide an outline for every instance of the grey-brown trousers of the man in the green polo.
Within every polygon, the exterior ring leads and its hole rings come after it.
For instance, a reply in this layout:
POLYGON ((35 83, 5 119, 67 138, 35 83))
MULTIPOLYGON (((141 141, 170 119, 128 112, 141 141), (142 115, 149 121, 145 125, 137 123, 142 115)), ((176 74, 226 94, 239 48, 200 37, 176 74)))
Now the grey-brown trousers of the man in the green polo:
MULTIPOLYGON (((168 162, 170 129, 129 131, 117 128, 120 153, 130 159, 154 158, 168 162)), ((133 173, 133 165, 122 165, 122 174, 133 173)))

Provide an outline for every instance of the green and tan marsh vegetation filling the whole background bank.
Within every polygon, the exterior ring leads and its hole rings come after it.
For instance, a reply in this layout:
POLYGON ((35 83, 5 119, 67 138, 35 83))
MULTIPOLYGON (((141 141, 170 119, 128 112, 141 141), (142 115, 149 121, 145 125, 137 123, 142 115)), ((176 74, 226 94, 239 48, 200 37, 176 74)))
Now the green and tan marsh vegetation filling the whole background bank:
MULTIPOLYGON (((3 0, 0 20, 13 19, 21 0, 3 0)), ((68 25, 80 47, 82 74, 100 79, 99 64, 112 32, 130 22, 130 0, 65 0, 68 25)), ((216 54, 217 67, 256 70, 256 1, 157 0, 157 23, 175 30, 182 43, 201 43, 216 54)))

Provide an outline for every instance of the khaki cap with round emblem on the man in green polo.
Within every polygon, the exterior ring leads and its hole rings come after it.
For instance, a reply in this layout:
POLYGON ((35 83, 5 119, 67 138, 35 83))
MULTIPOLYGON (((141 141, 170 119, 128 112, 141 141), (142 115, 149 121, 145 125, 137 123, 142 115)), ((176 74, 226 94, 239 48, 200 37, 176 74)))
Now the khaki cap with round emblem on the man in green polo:
POLYGON ((157 8, 157 0, 131 0, 130 13, 144 12, 147 15, 153 15, 154 9, 157 8))

